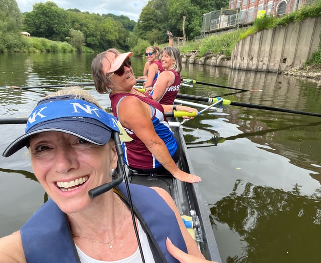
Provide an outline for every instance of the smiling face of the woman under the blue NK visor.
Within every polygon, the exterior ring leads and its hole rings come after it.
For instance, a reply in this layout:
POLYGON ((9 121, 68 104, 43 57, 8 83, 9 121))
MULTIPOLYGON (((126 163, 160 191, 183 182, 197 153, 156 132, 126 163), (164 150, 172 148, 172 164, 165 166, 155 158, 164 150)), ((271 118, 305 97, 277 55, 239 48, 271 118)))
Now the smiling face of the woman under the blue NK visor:
POLYGON ((31 164, 40 184, 65 213, 87 207, 88 191, 111 180, 117 154, 71 134, 49 131, 30 138, 31 164))

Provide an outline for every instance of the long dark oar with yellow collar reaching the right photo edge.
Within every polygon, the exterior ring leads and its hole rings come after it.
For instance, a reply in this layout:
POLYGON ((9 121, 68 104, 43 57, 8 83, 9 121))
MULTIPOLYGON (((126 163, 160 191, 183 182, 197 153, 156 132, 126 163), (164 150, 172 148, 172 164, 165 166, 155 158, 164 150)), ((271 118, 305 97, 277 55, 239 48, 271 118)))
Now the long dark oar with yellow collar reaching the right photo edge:
MULTIPOLYGON (((176 97, 181 98, 181 99, 205 101, 205 102, 209 102, 209 103, 216 102, 218 100, 217 98, 208 98, 208 97, 193 96, 193 95, 179 94, 179 93, 177 94, 176 97)), ((314 113, 314 112, 297 111, 297 110, 283 109, 283 108, 277 108, 277 107, 263 106, 263 105, 258 105, 258 104, 235 102, 235 101, 230 101, 230 100, 226 100, 226 99, 223 100, 223 105, 233 105, 233 106, 240 106, 240 107, 247 107, 247 108, 254 108, 254 109, 288 112, 288 113, 295 113, 295 114, 301 114, 301 115, 321 117, 321 114, 314 113)))

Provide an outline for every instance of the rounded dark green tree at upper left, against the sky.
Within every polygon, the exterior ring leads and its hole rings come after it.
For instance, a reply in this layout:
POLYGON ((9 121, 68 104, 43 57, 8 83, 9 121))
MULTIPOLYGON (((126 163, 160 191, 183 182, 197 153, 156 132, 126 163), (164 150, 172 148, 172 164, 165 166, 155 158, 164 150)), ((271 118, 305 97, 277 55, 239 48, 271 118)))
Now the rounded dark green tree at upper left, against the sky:
POLYGON ((67 11, 52 1, 34 4, 25 15, 25 29, 36 37, 64 41, 70 28, 67 11))

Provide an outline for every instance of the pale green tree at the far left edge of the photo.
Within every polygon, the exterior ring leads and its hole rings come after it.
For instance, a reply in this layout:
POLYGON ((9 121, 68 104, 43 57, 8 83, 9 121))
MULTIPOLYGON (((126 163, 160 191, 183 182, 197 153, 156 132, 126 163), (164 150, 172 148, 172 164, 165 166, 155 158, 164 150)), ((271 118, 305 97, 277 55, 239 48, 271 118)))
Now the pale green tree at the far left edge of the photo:
POLYGON ((0 52, 22 45, 22 14, 16 0, 0 1, 0 52))

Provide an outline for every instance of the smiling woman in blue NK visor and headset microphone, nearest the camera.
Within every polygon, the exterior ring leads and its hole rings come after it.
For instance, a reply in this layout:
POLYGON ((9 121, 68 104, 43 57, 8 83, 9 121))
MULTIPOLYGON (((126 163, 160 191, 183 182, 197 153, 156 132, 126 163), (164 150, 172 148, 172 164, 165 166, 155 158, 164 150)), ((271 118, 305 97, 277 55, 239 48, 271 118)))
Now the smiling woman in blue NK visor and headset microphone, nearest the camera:
POLYGON ((171 242, 203 260, 167 192, 132 184, 128 192, 121 183, 118 132, 116 119, 81 89, 38 103, 3 156, 26 146, 50 198, 0 239, 0 262, 178 262, 171 242))

